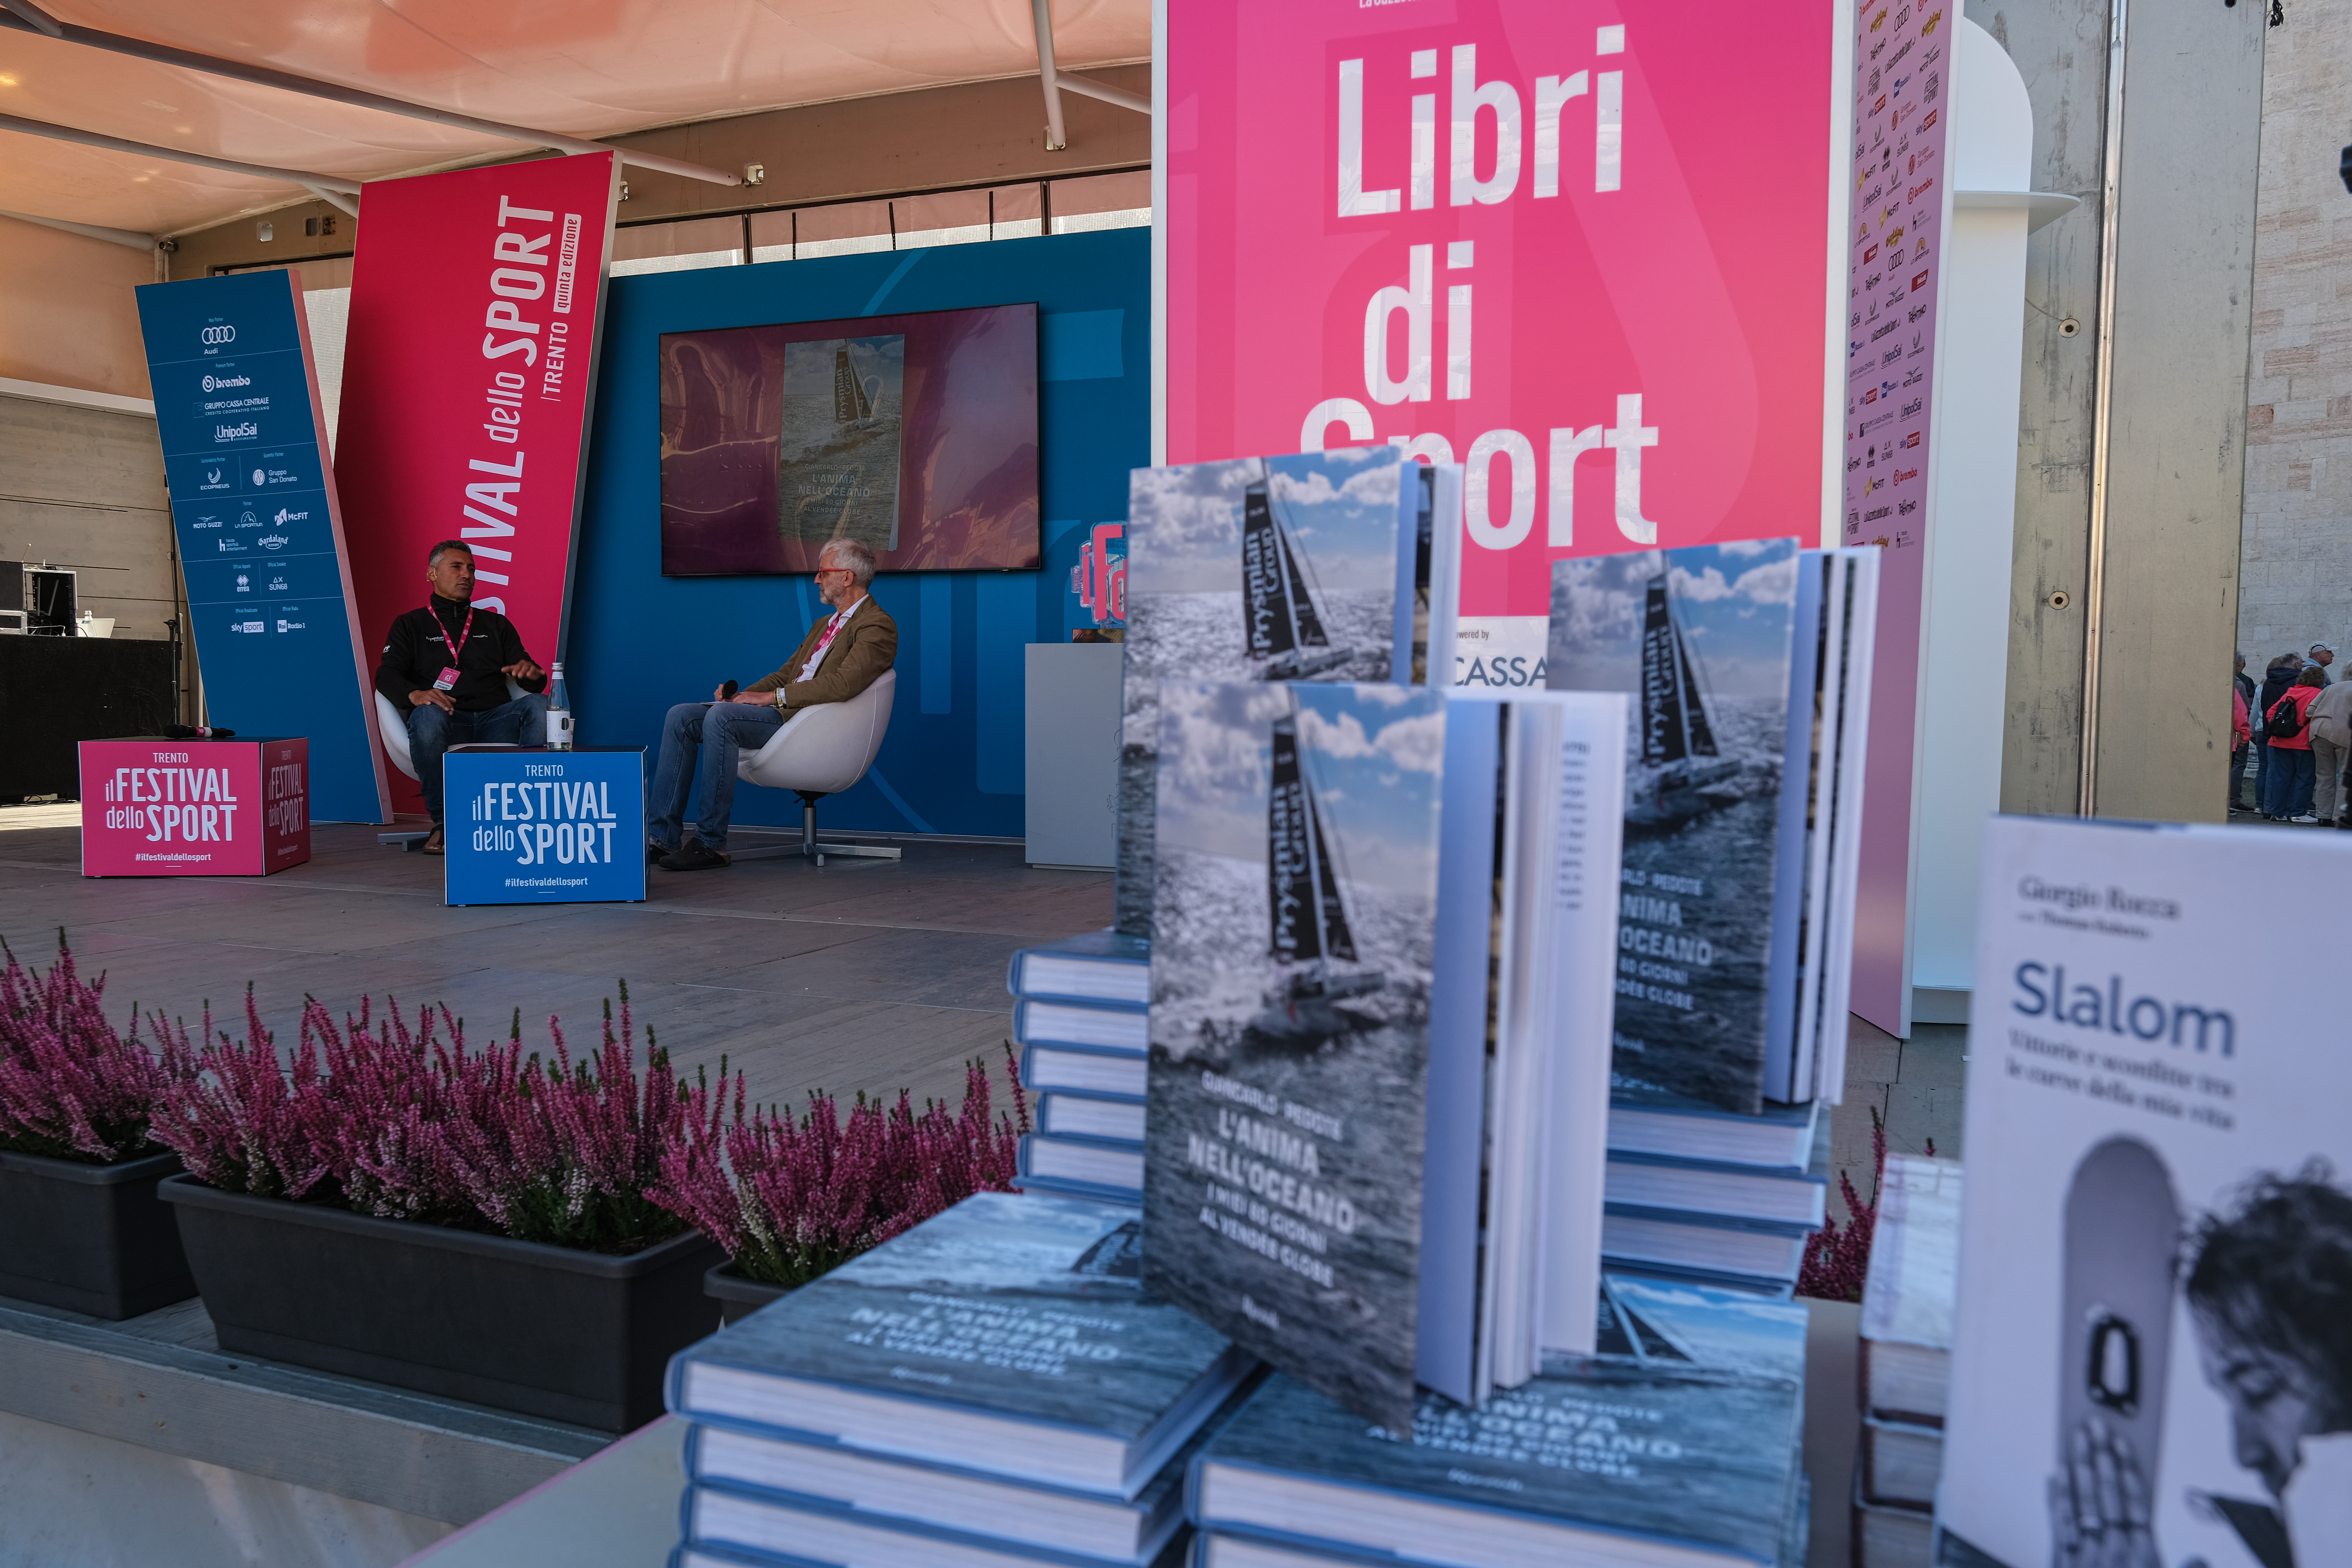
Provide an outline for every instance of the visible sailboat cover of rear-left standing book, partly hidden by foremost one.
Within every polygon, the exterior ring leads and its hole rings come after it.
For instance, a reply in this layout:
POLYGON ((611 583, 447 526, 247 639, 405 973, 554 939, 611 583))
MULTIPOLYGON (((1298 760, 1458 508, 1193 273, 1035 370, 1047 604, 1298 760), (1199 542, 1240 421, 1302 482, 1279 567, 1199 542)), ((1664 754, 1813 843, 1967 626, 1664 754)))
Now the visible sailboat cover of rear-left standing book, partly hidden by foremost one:
POLYGON ((1152 936, 1160 682, 1402 682, 1421 480, 1390 447, 1136 468, 1115 926, 1152 936))

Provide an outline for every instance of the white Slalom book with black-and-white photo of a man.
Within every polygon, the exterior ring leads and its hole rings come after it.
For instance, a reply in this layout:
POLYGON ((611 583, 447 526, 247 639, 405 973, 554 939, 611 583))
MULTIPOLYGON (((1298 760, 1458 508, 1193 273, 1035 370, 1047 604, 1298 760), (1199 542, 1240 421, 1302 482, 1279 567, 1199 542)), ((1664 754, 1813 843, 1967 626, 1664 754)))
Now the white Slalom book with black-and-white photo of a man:
POLYGON ((1992 818, 1943 1561, 2352 1552, 2352 1053, 2328 832, 1992 818))

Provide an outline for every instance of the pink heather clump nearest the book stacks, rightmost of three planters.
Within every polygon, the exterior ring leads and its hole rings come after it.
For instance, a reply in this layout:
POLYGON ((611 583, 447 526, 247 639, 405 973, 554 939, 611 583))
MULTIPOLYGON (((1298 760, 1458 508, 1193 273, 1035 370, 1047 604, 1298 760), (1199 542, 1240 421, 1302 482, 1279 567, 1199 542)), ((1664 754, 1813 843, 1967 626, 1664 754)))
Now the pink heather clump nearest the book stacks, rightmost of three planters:
POLYGON ((990 1107, 988 1072, 964 1067, 964 1105, 924 1100, 915 1110, 863 1093, 842 1117, 828 1093, 811 1093, 797 1119, 776 1107, 743 1114, 743 1074, 731 1095, 689 1095, 684 1138, 661 1159, 649 1194, 727 1248, 736 1269, 771 1286, 802 1286, 870 1246, 913 1229, 974 1192, 1011 1192, 1028 1098, 1004 1048, 1014 1114, 990 1107), (731 1114, 729 1114, 731 1107, 731 1114))

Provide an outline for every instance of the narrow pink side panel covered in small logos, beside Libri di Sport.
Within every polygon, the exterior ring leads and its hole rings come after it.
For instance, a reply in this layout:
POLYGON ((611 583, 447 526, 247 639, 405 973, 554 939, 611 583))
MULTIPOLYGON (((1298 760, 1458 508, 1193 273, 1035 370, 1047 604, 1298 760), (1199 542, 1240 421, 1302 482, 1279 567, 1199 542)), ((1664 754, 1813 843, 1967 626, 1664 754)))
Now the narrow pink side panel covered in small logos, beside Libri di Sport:
POLYGON ((1884 562, 1851 1006, 1891 1034, 1910 1034, 1912 764, 1957 16, 1952 0, 1875 0, 1856 16, 1853 47, 1844 536, 1879 545, 1884 562))

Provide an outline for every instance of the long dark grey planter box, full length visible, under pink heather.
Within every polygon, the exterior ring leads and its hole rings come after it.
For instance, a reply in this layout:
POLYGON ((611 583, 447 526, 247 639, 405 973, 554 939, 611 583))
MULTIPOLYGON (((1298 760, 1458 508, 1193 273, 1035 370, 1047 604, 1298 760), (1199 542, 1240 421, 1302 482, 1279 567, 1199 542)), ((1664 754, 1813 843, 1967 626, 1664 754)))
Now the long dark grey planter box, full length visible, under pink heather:
POLYGON ((600 1432, 661 1415, 717 1328, 699 1229, 626 1258, 242 1192, 162 1185, 221 1349, 600 1432))

